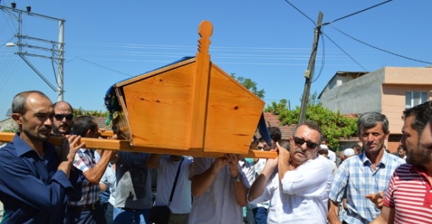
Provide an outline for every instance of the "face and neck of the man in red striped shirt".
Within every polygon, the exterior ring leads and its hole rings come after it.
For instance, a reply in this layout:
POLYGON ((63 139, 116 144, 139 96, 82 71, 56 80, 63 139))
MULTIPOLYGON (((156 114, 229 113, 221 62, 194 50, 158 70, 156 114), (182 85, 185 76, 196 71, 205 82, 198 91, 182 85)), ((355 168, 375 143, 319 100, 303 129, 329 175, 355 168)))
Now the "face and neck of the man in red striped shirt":
MULTIPOLYGON (((406 150, 406 163, 415 164, 415 165, 424 165, 430 163, 431 159, 431 150, 425 150, 423 147, 420 147, 420 136, 418 132, 411 128, 411 122, 413 121, 414 116, 409 116, 405 119, 404 126, 402 128, 402 139, 400 139, 400 145, 403 146, 406 150)), ((424 131, 426 131, 426 127, 424 131)))

